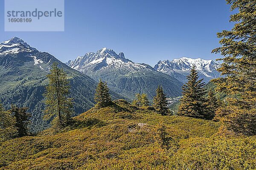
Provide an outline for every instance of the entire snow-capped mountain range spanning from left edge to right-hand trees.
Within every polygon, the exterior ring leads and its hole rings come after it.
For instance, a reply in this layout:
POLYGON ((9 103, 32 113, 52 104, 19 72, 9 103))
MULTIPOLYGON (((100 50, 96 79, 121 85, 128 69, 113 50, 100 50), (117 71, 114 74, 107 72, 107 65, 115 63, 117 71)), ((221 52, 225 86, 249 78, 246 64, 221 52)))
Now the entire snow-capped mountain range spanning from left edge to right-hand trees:
POLYGON ((33 132, 49 126, 43 120, 43 94, 46 75, 53 62, 63 68, 70 80, 70 96, 74 99, 75 115, 94 105, 93 97, 99 79, 108 82, 113 99, 134 99, 136 93, 146 93, 152 99, 158 85, 168 97, 181 96, 181 87, 192 65, 207 81, 218 77, 218 63, 212 60, 181 58, 160 61, 151 67, 125 58, 124 53, 102 48, 86 53, 74 61, 63 63, 47 52, 38 51, 18 37, 0 42, 0 102, 6 109, 11 104, 28 107, 32 113, 33 132))

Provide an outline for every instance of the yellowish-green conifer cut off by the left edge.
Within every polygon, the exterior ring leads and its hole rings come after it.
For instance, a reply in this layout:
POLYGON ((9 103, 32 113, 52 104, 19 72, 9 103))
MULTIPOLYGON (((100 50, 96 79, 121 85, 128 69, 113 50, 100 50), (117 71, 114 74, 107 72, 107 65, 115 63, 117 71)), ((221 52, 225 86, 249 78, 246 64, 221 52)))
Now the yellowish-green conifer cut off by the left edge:
POLYGON ((12 139, 17 136, 17 127, 15 127, 15 117, 10 112, 5 111, 0 104, 0 142, 12 139))

